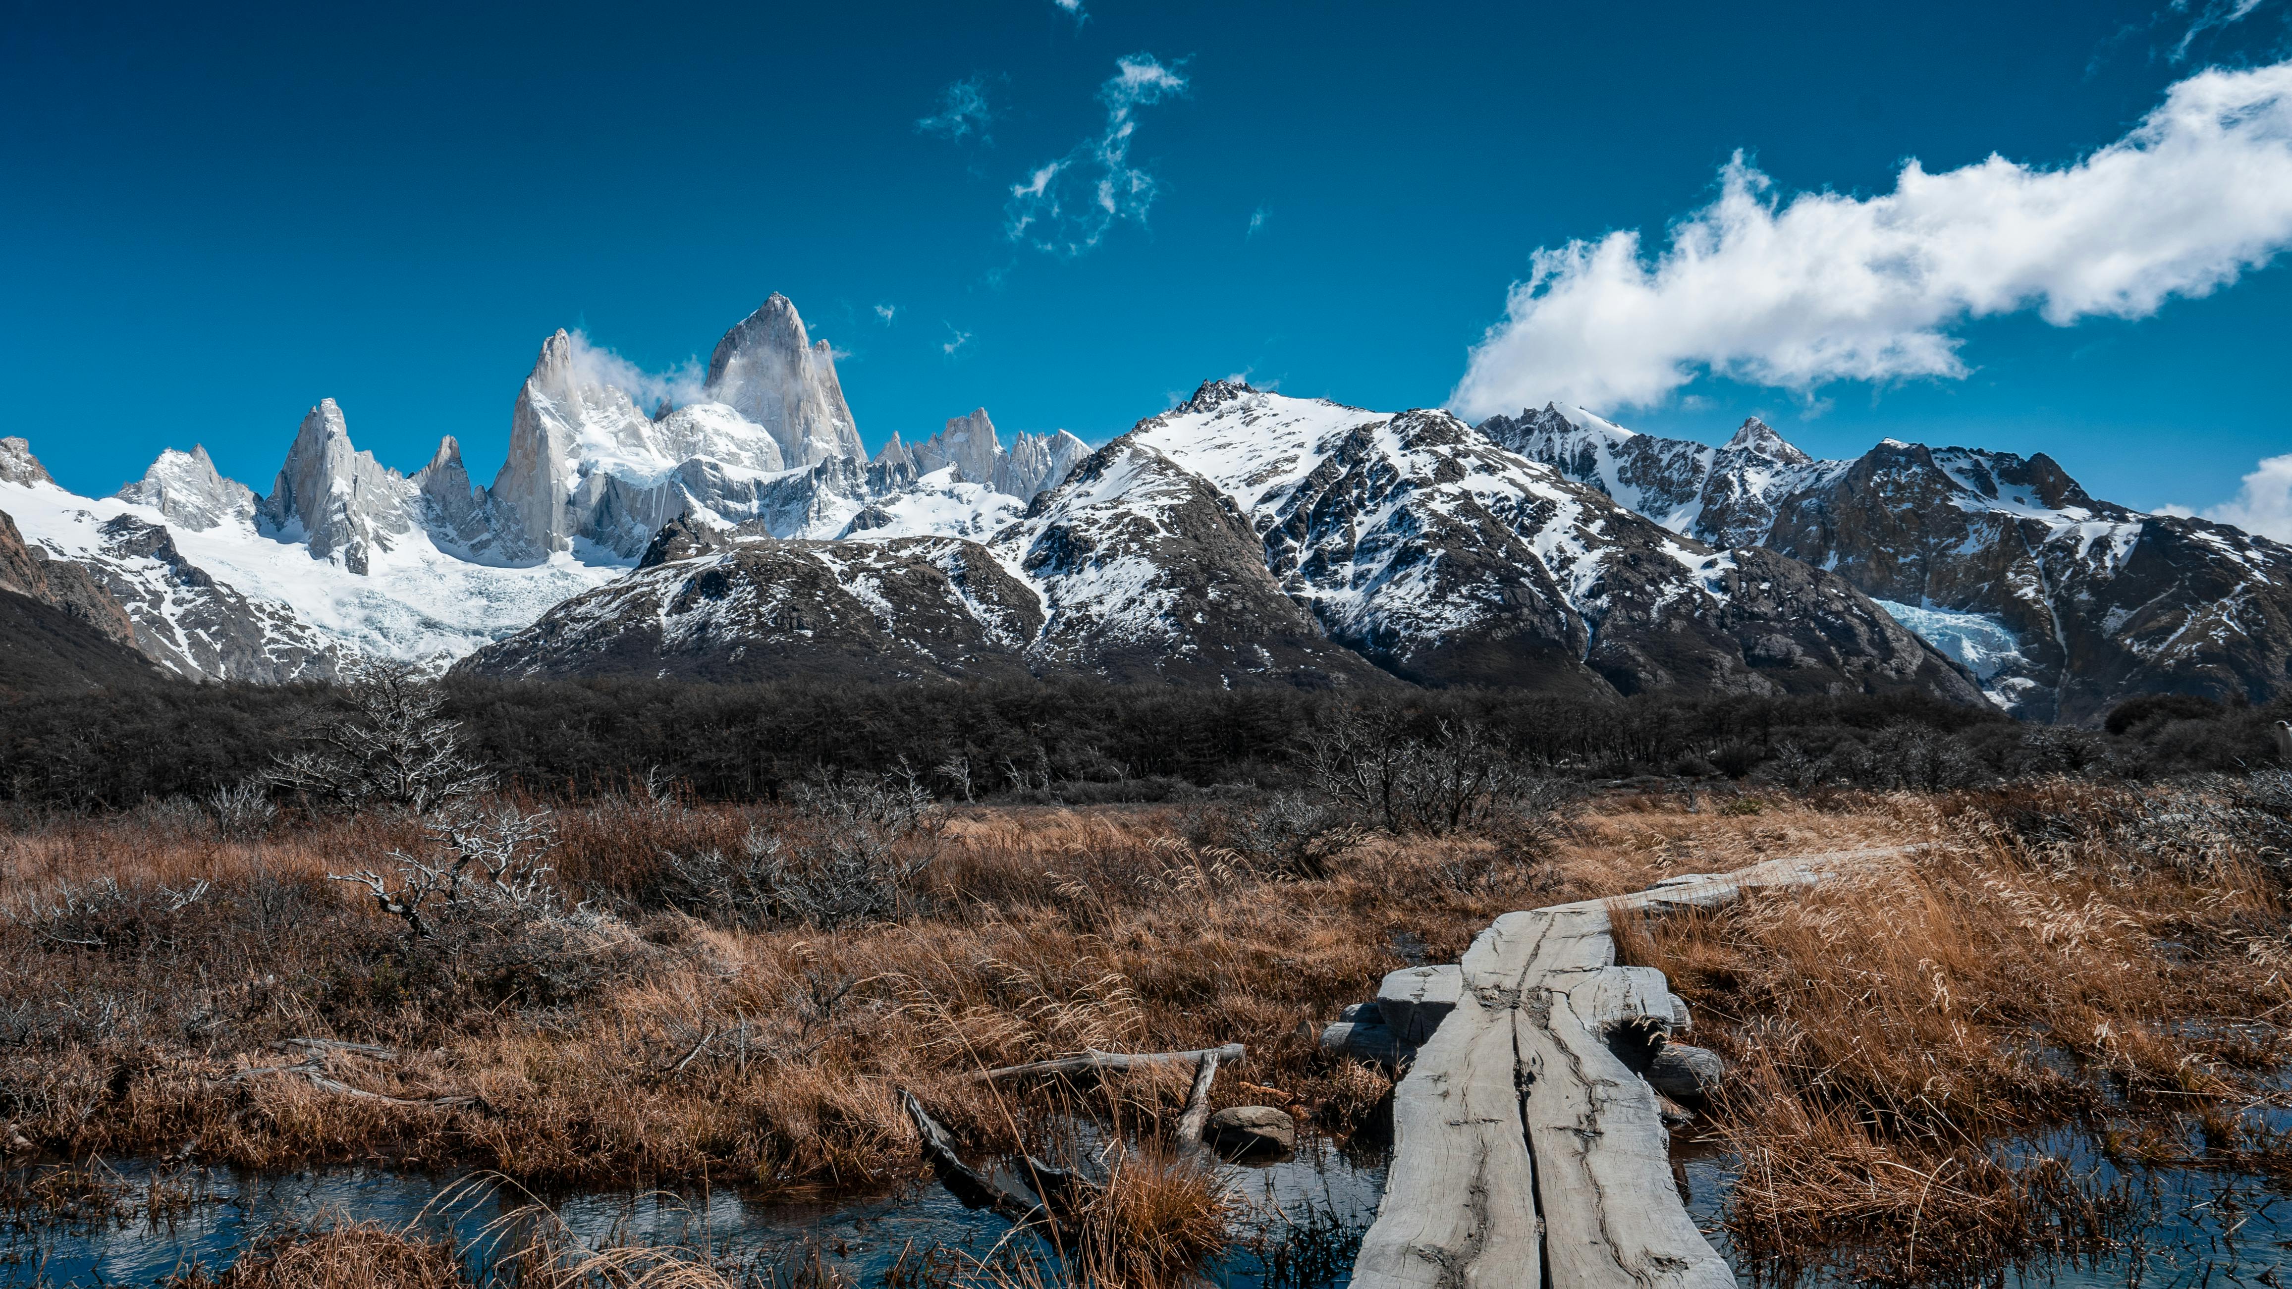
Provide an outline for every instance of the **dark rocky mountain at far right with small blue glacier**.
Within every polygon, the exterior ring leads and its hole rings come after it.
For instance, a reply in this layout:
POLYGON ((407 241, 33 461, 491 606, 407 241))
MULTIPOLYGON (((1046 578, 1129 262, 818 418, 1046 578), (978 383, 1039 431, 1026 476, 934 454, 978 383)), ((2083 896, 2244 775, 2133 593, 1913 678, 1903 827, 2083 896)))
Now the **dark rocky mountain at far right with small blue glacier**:
POLYGON ((2044 454, 1884 440, 1813 461, 1758 420, 1714 450, 1559 406, 1481 431, 1673 532, 1836 571, 2019 716, 2267 700, 2292 663, 2292 548, 2095 500, 2044 454))

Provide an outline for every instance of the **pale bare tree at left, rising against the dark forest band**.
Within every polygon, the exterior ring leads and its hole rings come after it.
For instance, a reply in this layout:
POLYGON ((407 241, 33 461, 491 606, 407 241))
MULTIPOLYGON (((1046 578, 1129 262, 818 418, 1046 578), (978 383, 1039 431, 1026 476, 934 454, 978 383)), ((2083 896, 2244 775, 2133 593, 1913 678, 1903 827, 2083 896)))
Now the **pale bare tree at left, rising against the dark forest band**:
POLYGON ((438 716, 445 693, 406 663, 369 663, 344 686, 348 711, 309 748, 284 752, 273 787, 346 810, 401 807, 433 814, 493 784, 468 752, 458 720, 438 716))

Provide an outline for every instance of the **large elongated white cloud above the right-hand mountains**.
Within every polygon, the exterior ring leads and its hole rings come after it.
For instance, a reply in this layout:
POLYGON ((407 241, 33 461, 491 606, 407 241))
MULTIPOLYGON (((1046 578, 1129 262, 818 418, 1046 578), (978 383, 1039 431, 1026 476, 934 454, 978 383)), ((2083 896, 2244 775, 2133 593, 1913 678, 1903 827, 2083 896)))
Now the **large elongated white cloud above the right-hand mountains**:
POLYGON ((2138 319, 2287 243, 2292 62, 2180 80, 2138 128, 2061 170, 1912 161, 1879 197, 1783 202, 1737 156, 1719 200, 1653 259, 1636 232, 1540 248, 1449 401, 1471 417, 1646 406, 1703 372, 1802 394, 1957 378, 1967 319, 2138 319))

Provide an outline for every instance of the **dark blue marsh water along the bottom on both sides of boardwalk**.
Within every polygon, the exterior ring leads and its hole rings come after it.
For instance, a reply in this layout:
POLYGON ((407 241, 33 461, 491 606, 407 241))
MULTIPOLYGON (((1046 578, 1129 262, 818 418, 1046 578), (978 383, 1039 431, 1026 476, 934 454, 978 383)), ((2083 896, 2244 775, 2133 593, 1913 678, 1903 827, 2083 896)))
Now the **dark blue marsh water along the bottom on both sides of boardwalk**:
MULTIPOLYGON (((2067 1135, 2033 1149, 2067 1154, 2095 1186, 2132 1188, 2141 1218, 2116 1250, 2088 1259, 1987 1268, 1976 1280, 2065 1289, 2274 1289, 2292 1282, 2292 1186, 2198 1170, 2120 1174, 2067 1135)), ((1682 1142, 1675 1163, 1689 1213, 1735 1264, 1737 1280, 1758 1282, 1760 1268, 1740 1264, 1724 1232, 1735 1183, 1733 1156, 1682 1142)), ((344 1218, 454 1234, 472 1261, 484 1261, 504 1218, 532 1204, 545 1204, 552 1220, 591 1248, 708 1248, 743 1264, 818 1250, 869 1289, 892 1280, 887 1273, 903 1257, 926 1250, 986 1257, 1011 1232, 1002 1218, 967 1211, 928 1183, 837 1204, 761 1204, 736 1188, 532 1195, 486 1179, 380 1167, 250 1174, 99 1163, 96 1174, 112 1183, 119 1202, 46 1216, 18 1211, 0 1222, 7 1227, 0 1236, 0 1284, 154 1284, 195 1261, 220 1266, 264 1232, 344 1218)), ((1304 1138, 1293 1158, 1263 1167, 1224 1165, 1224 1174, 1242 1200, 1242 1239, 1208 1268, 1210 1282, 1238 1289, 1320 1289, 1348 1280, 1359 1234, 1375 1218, 1384 1183, 1382 1158, 1304 1138)), ((18 1183, 37 1177, 39 1170, 14 1174, 18 1183)), ((1811 1278, 1818 1284, 1836 1280, 1811 1278)))

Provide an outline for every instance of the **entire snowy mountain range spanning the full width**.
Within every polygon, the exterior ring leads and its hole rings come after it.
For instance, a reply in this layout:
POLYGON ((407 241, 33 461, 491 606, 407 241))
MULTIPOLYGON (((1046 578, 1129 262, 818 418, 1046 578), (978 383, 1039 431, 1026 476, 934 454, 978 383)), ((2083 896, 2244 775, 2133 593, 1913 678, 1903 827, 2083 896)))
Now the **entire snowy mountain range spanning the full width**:
POLYGON ((195 447, 80 498, 9 438, 0 511, 21 619, 0 651, 71 683, 385 656, 490 677, 1918 690, 2090 722, 2129 693, 2264 697, 2292 642, 2292 550, 2095 502, 2044 456, 1811 461, 1758 422, 1708 447, 1556 406, 1471 427, 1210 381, 1098 450, 1004 443, 979 408, 871 459, 834 353, 782 296, 724 333, 683 406, 639 408, 550 335, 490 486, 454 438, 413 475, 383 466, 325 399, 261 495, 195 447))

